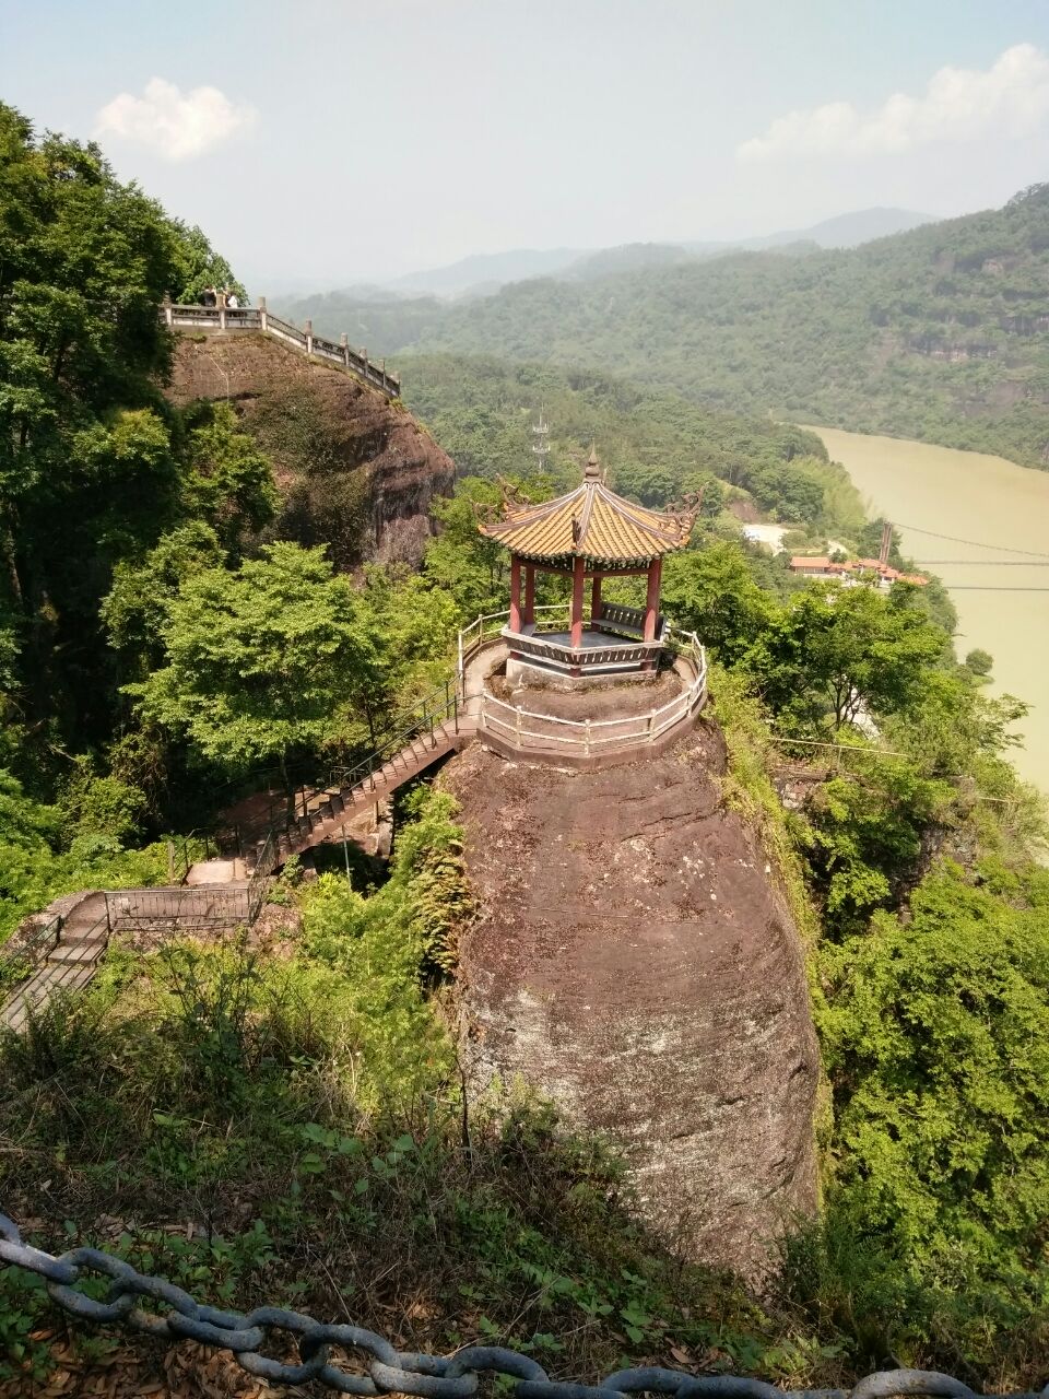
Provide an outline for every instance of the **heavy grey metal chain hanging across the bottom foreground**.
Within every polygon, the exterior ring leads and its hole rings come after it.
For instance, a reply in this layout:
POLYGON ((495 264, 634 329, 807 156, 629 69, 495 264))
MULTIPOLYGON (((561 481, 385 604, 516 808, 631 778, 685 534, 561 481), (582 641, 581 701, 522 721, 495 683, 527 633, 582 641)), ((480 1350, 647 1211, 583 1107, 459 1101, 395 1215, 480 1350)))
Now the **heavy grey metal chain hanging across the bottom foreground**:
MULTIPOLYGON (((120 1258, 98 1248, 74 1248, 56 1256, 24 1244, 14 1220, 0 1214, 0 1262, 43 1277, 48 1294, 80 1321, 119 1322, 161 1340, 197 1340, 231 1350, 236 1363, 270 1384, 301 1385, 315 1379, 344 1395, 420 1395, 422 1399, 471 1399, 483 1374, 502 1375, 518 1399, 620 1399, 624 1395, 674 1395, 676 1399, 782 1399, 783 1391, 761 1379, 737 1375, 690 1375, 678 1370, 643 1367, 620 1370, 597 1385, 551 1379, 538 1361, 504 1346, 467 1346, 453 1356, 427 1356, 397 1350, 383 1336, 362 1326, 323 1323, 285 1307, 256 1307, 243 1315, 197 1302, 189 1293, 140 1273, 120 1258), (110 1279, 105 1301, 95 1301, 77 1287, 85 1276, 110 1279), (144 1309, 140 1302, 154 1302, 144 1309), (284 1364, 263 1354, 273 1333, 292 1336, 299 1363, 284 1364), (366 1374, 354 1374, 333 1361, 337 1349, 359 1357, 366 1374)), ((932 1370, 881 1370, 860 1379, 853 1389, 799 1389, 797 1399, 894 1399, 898 1395, 930 1395, 934 1399, 975 1399, 961 1379, 932 1370)), ((993 1396, 1006 1399, 1006 1396, 993 1396)), ((1039 1395, 1014 1393, 1008 1399, 1049 1399, 1049 1385, 1039 1395)))

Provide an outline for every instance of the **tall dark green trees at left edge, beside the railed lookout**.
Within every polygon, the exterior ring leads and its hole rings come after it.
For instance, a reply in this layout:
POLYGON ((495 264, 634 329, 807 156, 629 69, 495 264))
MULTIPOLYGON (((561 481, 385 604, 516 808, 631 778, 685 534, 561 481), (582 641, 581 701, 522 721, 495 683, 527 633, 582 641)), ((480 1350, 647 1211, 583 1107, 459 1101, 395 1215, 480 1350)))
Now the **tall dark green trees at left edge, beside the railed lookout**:
POLYGON ((0 674, 27 772, 110 736, 99 602, 185 512, 158 305, 189 236, 98 147, 0 104, 0 674))

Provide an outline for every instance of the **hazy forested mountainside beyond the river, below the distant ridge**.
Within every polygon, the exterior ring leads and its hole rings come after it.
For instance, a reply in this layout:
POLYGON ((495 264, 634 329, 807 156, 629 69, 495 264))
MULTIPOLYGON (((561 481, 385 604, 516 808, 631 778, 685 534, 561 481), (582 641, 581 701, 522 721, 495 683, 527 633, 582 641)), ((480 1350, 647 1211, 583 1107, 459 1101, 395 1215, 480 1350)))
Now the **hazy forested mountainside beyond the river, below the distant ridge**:
MULTIPOLYGON (((1049 464, 1049 186, 853 249, 737 253, 455 305, 290 304, 376 354, 587 365, 697 402, 1049 464)), ((408 381, 410 383, 410 381, 408 381)))

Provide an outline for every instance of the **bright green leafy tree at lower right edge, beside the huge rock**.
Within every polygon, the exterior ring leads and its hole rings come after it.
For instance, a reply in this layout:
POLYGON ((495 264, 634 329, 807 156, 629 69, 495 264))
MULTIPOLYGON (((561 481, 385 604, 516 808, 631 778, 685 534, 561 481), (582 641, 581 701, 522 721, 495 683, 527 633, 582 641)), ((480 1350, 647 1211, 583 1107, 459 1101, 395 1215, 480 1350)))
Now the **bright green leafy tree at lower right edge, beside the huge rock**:
POLYGON ((911 916, 824 956, 838 1192, 926 1280, 989 1291, 1043 1270, 1049 880, 929 876, 911 916), (1004 898, 1001 895, 1006 895, 1004 898))

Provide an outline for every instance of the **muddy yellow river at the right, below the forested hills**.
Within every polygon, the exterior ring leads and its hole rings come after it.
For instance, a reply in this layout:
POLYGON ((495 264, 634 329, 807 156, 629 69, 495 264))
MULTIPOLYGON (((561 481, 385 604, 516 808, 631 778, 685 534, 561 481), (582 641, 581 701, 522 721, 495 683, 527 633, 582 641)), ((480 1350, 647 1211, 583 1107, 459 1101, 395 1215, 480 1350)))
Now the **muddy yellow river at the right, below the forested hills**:
POLYGON ((813 431, 871 512, 897 525, 904 553, 943 578, 958 610, 959 656, 989 651, 993 688, 1032 705, 1013 761, 1049 793, 1049 471, 925 442, 813 431), (1041 553, 1045 567, 1008 550, 1041 553))

